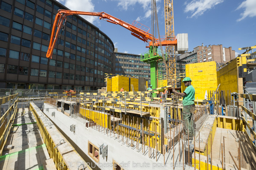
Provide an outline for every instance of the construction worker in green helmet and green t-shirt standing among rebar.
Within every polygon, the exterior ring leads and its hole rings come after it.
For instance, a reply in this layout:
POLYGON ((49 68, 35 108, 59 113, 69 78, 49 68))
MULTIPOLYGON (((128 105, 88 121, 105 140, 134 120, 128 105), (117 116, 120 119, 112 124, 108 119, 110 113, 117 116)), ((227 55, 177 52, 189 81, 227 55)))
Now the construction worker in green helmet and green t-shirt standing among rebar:
POLYGON ((172 89, 172 92, 183 97, 183 126, 186 132, 185 140, 192 139, 194 132, 194 123, 192 120, 192 114, 195 112, 195 88, 191 85, 192 80, 189 77, 185 77, 182 82, 184 82, 187 87, 183 93, 179 93, 172 89))

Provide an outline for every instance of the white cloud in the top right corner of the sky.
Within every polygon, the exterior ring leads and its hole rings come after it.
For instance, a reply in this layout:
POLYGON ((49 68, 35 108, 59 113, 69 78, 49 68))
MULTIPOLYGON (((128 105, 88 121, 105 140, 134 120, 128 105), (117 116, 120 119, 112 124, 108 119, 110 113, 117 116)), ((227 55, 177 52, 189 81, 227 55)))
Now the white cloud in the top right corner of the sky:
POLYGON ((256 16, 256 0, 245 0, 236 8, 236 10, 241 8, 243 8, 244 11, 240 14, 241 18, 236 21, 241 21, 246 17, 256 16))

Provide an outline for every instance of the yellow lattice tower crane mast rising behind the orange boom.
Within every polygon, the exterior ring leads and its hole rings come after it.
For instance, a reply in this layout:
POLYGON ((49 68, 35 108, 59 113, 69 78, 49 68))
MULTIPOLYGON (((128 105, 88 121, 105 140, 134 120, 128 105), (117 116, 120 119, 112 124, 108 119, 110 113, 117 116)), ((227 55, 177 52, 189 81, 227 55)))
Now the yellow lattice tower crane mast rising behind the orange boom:
MULTIPOLYGON (((174 37, 174 19, 173 19, 173 1, 164 0, 164 14, 165 14, 165 34, 166 37, 172 39, 174 37)), ((167 84, 172 85, 172 88, 176 88, 176 57, 175 57, 175 45, 166 46, 166 77, 167 84)))

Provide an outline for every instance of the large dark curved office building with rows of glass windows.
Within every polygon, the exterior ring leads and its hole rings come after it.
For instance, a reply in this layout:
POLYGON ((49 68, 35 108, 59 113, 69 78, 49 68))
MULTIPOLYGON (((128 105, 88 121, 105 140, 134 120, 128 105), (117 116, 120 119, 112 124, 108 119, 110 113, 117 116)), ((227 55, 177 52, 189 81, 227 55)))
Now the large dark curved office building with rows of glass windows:
POLYGON ((95 90, 113 73, 111 39, 78 15, 68 16, 52 59, 46 58, 55 0, 0 0, 0 88, 95 90))

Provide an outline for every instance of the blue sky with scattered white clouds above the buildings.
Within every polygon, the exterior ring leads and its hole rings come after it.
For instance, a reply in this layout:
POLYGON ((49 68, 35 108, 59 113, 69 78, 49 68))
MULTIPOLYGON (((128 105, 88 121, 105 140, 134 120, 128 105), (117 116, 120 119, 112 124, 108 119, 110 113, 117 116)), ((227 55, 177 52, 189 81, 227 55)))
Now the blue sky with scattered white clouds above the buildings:
MULTIPOLYGON (((151 0, 58 0, 70 10, 106 12, 127 23, 139 21, 150 28, 151 0)), ((189 51, 198 45, 238 48, 256 45, 256 0, 173 0, 175 35, 188 33, 189 51)), ((157 0, 160 35, 164 29, 164 0, 157 0)), ((82 16, 108 35, 119 52, 141 54, 145 43, 119 25, 82 16)))

